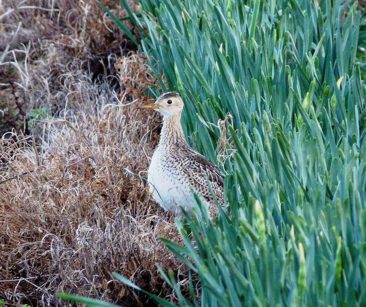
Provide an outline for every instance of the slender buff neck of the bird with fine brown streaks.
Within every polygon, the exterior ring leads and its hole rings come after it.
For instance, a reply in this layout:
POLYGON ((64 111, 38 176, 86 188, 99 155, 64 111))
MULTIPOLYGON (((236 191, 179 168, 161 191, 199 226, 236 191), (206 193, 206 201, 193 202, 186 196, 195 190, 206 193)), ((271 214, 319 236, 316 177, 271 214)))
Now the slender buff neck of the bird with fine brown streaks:
POLYGON ((187 144, 182 125, 180 124, 181 114, 182 113, 172 116, 164 116, 159 144, 187 144))

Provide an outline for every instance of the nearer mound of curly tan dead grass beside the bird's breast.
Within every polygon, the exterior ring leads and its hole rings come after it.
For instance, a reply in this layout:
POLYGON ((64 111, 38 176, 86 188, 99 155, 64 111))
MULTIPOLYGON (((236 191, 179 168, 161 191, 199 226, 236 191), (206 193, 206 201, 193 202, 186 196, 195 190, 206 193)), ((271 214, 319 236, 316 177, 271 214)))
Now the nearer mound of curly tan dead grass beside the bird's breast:
POLYGON ((93 84, 74 64, 56 92, 67 109, 35 123, 41 142, 14 130, 1 139, 0 297, 9 302, 61 306, 55 293, 63 291, 143 306, 147 298, 112 272, 171 300, 155 264, 188 276, 158 239, 180 242, 173 216, 138 177, 146 175, 160 117, 136 107, 156 80, 141 56, 116 63, 125 91, 93 84))

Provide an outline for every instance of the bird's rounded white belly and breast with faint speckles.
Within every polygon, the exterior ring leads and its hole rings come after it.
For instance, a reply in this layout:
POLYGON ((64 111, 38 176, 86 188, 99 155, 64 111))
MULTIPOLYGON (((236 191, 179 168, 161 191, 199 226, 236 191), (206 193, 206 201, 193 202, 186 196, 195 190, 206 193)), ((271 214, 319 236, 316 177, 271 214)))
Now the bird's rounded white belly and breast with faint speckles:
POLYGON ((172 210, 179 215, 180 206, 183 206, 190 212, 194 198, 188 181, 181 172, 172 169, 169 164, 153 155, 147 175, 150 193, 164 210, 172 210))

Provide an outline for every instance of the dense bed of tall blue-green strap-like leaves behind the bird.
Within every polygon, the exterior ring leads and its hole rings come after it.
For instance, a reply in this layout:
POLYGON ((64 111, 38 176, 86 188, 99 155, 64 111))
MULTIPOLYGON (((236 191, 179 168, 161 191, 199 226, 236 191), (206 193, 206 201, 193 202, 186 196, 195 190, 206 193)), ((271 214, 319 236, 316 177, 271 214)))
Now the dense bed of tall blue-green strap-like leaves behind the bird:
MULTIPOLYGON (((230 217, 213 223, 197 198, 187 224, 176 220, 184 246, 163 239, 198 274, 202 306, 366 306, 366 85, 355 4, 140 5, 142 18, 131 18, 141 49, 182 94, 188 140, 212 161, 217 123, 232 116, 230 217)), ((180 306, 198 306, 193 283, 187 299, 165 277, 180 306)))

